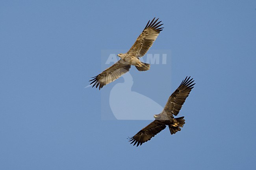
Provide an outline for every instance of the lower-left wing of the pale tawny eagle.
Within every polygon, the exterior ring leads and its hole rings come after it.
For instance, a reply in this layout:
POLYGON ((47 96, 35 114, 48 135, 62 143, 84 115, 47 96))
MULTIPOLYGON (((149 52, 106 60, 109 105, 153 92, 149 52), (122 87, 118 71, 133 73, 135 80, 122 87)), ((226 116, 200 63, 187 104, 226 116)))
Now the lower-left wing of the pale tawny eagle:
POLYGON ((109 84, 119 77, 121 77, 124 73, 128 72, 131 68, 131 65, 122 64, 120 60, 116 62, 113 66, 107 68, 105 71, 100 73, 99 75, 92 77, 94 79, 89 80, 91 81, 91 84, 93 84, 93 87, 96 85, 96 88, 99 86, 99 90, 105 86, 106 84, 109 84))

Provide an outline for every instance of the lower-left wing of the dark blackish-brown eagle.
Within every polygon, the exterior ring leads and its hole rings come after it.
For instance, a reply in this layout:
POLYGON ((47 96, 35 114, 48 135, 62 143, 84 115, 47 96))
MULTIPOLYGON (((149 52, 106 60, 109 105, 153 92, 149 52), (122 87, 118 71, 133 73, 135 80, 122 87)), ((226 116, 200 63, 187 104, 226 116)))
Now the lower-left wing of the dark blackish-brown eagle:
POLYGON ((149 141, 152 137, 154 137, 157 133, 164 130, 166 127, 163 121, 153 121, 148 126, 140 130, 136 135, 133 137, 128 138, 132 143, 137 144, 137 146, 149 141))

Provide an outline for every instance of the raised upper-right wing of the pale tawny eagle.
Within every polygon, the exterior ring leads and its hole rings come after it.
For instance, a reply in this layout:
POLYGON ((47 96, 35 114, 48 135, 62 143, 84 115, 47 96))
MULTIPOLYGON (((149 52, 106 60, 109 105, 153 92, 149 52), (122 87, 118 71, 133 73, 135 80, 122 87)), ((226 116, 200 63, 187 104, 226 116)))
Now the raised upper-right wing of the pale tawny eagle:
POLYGON ((139 35, 132 48, 127 52, 129 55, 142 57, 152 46, 160 31, 163 30, 163 27, 160 28, 160 26, 163 25, 160 24, 162 21, 157 22, 159 18, 156 20, 155 18, 151 22, 150 20, 148 21, 147 26, 144 28, 141 35, 139 35))

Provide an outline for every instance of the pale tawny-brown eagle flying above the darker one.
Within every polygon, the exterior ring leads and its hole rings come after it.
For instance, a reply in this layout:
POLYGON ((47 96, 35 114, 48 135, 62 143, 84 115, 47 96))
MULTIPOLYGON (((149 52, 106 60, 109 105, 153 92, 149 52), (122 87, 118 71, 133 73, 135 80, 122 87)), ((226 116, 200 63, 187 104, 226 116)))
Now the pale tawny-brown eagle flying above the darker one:
POLYGON ((150 20, 148 21, 141 35, 139 35, 134 45, 127 53, 118 54, 118 57, 121 58, 118 62, 99 75, 92 77, 92 80, 89 80, 91 84, 93 84, 93 87, 99 87, 100 90, 106 84, 113 82, 124 73, 128 72, 131 65, 135 66, 139 71, 147 71, 150 69, 150 64, 141 62, 139 57, 143 57, 143 55, 147 53, 160 31, 163 30, 163 27, 161 27, 163 24, 160 24, 161 21, 158 22, 159 18, 156 20, 155 18, 151 22, 150 20))

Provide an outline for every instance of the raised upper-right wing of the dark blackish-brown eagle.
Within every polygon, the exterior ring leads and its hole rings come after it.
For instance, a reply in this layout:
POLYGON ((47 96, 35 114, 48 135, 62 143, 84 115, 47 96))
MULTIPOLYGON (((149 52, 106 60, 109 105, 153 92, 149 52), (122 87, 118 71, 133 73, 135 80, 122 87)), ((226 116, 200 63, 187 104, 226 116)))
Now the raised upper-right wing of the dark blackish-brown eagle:
POLYGON ((178 115, 182 104, 184 104, 190 91, 194 88, 193 86, 195 85, 195 83, 192 84, 194 82, 194 80, 192 80, 193 78, 190 79, 190 77, 186 77, 186 79, 181 82, 180 86, 169 97, 163 111, 167 112, 167 114, 171 113, 175 116, 178 115))

